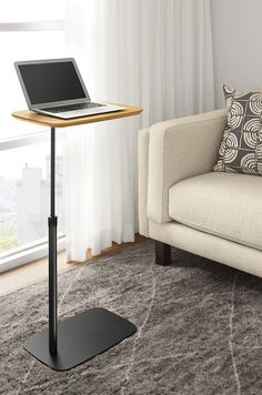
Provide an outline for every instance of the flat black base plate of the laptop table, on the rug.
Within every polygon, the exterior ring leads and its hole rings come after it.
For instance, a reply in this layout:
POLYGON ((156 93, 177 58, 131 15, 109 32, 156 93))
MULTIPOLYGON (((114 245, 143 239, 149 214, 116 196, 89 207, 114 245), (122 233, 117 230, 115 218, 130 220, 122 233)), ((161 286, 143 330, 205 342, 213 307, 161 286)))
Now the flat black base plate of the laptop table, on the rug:
POLYGON ((49 330, 32 336, 24 348, 54 371, 68 371, 131 336, 137 327, 129 321, 95 307, 58 323, 58 350, 49 352, 49 330))

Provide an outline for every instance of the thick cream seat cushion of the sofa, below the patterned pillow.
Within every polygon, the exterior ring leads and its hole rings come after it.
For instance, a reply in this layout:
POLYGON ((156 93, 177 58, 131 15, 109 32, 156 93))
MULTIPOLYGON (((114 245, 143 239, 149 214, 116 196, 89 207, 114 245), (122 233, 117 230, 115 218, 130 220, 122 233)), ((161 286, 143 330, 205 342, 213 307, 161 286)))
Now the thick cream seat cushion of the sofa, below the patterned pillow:
POLYGON ((212 172, 183 180, 169 190, 169 214, 190 227, 262 250, 258 175, 212 172))

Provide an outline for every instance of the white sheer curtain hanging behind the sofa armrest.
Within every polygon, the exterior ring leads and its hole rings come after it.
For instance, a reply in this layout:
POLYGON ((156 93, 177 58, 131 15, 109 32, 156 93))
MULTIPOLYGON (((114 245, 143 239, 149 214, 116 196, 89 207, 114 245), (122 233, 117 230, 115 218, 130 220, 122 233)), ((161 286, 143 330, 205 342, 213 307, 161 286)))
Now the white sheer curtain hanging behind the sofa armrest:
POLYGON ((138 231, 141 126, 213 109, 209 0, 68 0, 68 52, 91 99, 141 105, 141 117, 66 134, 68 260, 138 231))

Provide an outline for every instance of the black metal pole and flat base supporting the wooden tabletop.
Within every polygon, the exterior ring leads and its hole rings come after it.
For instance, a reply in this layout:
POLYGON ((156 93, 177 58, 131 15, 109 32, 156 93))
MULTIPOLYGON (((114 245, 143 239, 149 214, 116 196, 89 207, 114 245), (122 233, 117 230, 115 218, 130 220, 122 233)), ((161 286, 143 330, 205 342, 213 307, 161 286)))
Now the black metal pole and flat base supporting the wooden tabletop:
POLYGON ((54 371, 70 369, 131 336, 131 322, 95 307, 58 322, 57 225, 56 216, 56 129, 51 128, 49 225, 49 327, 33 335, 24 348, 54 371))

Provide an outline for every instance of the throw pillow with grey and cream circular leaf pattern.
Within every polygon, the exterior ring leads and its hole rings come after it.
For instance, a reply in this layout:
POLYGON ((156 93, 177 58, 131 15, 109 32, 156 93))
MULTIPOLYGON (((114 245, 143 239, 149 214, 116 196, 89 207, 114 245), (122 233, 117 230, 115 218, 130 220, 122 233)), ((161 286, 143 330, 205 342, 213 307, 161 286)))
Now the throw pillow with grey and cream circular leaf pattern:
POLYGON ((262 175, 262 92, 223 91, 228 122, 213 170, 262 175))

